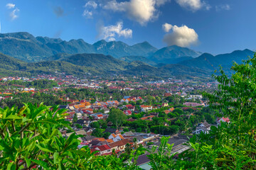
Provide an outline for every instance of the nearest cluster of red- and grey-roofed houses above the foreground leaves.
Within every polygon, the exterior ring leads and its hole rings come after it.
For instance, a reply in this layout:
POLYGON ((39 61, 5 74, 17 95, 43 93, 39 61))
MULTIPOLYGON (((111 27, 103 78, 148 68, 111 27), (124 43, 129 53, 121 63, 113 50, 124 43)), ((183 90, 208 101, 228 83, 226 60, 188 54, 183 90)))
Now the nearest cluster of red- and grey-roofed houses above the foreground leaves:
MULTIPOLYGON (((115 128, 107 128, 105 132, 111 133, 107 139, 92 136, 92 131, 88 129, 75 131, 75 134, 83 136, 78 138, 81 141, 79 147, 88 146, 91 152, 95 152, 95 155, 120 154, 124 152, 128 143, 132 147, 135 145, 145 146, 148 142, 159 142, 160 138, 159 135, 153 133, 124 132, 121 135, 121 132, 115 128)), ((63 137, 68 137, 72 133, 62 132, 63 137)))

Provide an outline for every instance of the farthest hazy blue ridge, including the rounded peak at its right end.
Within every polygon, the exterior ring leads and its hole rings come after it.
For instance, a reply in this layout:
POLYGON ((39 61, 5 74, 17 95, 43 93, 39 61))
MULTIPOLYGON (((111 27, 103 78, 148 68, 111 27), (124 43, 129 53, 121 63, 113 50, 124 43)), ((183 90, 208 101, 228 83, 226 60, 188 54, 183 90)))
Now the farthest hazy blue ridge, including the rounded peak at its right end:
MULTIPOLYGON (((0 34, 0 52, 26 62, 46 61, 53 55, 62 53, 68 55, 95 53, 111 55, 114 58, 137 56, 137 59, 134 58, 132 61, 149 57, 150 64, 160 62, 174 64, 182 61, 181 57, 198 57, 201 54, 175 45, 158 50, 146 41, 127 45, 121 41, 100 40, 91 45, 82 39, 65 41, 60 38, 34 37, 23 32, 0 34)), ((139 61, 144 62, 144 60, 139 61)))

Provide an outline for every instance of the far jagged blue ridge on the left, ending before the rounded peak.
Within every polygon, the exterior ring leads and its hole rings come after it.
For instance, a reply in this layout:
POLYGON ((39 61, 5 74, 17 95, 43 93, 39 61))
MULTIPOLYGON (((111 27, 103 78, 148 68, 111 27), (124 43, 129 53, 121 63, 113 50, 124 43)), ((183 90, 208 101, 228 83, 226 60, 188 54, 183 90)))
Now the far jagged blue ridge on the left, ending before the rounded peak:
POLYGON ((156 48, 148 42, 129 46, 124 42, 106 42, 100 40, 91 45, 82 39, 65 41, 60 38, 34 37, 29 33, 0 34, 0 52, 27 62, 48 60, 53 55, 60 53, 82 54, 97 53, 124 57, 139 55, 147 57, 156 52, 156 48))

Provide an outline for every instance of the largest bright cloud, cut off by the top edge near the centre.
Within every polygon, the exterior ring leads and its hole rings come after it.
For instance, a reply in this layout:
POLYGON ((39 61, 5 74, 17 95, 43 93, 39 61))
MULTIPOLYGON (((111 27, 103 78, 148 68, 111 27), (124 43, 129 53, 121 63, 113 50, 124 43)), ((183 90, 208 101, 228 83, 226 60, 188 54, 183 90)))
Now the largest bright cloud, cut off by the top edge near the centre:
POLYGON ((129 0, 122 2, 112 0, 108 1, 103 8, 124 12, 129 19, 145 25, 147 22, 159 16, 157 6, 163 5, 167 1, 169 0, 129 0))

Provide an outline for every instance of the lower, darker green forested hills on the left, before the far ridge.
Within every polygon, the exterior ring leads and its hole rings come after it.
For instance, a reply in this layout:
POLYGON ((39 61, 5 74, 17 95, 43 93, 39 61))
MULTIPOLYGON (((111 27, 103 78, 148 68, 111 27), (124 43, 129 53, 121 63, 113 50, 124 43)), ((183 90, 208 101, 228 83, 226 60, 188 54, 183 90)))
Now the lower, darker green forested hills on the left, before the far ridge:
POLYGON ((110 55, 78 54, 55 55, 55 61, 23 62, 0 53, 1 76, 23 76, 54 74, 55 72, 82 76, 90 74, 109 74, 144 65, 144 62, 124 62, 110 55))

